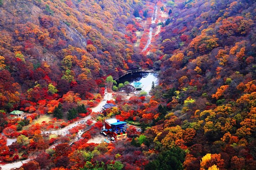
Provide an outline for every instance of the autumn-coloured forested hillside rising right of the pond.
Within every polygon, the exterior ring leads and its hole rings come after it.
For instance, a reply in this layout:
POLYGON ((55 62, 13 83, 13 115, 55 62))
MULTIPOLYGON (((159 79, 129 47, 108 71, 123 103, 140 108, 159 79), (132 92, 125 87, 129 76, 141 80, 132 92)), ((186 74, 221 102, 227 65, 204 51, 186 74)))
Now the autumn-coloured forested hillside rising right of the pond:
POLYGON ((255 1, 176 1, 167 8, 161 83, 153 91, 170 112, 147 133, 165 149, 186 150, 186 170, 253 169, 255 1))

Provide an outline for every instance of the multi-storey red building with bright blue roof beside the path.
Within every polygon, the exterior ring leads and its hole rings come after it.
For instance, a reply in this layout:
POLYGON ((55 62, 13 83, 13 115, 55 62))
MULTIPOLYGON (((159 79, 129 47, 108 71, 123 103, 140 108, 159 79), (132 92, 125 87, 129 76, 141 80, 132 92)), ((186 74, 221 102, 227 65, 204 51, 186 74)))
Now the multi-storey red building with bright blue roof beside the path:
POLYGON ((116 118, 106 119, 103 135, 111 136, 111 140, 125 140, 127 138, 126 123, 116 118))

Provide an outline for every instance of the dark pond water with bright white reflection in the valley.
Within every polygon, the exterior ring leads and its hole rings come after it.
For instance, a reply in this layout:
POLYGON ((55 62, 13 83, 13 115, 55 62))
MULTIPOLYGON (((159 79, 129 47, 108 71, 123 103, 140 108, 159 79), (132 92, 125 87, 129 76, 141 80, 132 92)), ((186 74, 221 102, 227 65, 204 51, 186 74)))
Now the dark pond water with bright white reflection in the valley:
POLYGON ((126 81, 128 81, 131 85, 133 85, 134 82, 140 82, 143 85, 142 90, 149 92, 151 90, 152 82, 154 82, 155 85, 158 84, 157 75, 158 74, 148 72, 135 72, 124 75, 116 82, 117 86, 119 83, 124 83, 126 81))

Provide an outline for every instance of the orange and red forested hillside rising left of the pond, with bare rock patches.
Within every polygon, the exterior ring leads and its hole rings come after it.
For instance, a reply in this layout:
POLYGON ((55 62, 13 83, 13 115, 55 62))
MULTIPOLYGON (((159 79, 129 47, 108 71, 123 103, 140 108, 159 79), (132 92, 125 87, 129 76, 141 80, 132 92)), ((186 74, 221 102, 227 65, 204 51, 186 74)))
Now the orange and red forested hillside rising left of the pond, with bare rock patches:
POLYGON ((72 89, 90 98, 104 76, 139 67, 142 60, 124 35, 135 21, 133 7, 140 6, 120 0, 2 1, 0 106, 9 111, 25 98, 56 98, 46 94, 49 84, 60 96, 72 89), (27 90, 29 97, 22 95, 27 90))

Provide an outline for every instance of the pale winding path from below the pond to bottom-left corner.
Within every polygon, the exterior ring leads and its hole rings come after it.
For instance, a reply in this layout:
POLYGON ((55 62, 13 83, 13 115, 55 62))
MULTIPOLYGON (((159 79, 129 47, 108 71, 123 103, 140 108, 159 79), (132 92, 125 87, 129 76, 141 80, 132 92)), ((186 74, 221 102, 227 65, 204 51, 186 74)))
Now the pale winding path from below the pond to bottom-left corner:
MULTIPOLYGON (((113 99, 113 96, 112 96, 112 93, 109 93, 105 90, 105 96, 104 98, 101 100, 101 102, 99 102, 98 106, 96 107, 93 107, 91 108, 93 112, 100 112, 101 109, 102 109, 102 106, 104 106, 106 103, 107 103, 107 100, 111 100, 113 99)), ((88 120, 88 119, 91 119, 91 115, 88 115, 86 117, 84 117, 83 119, 80 119, 76 122, 73 122, 71 123, 70 125, 60 129, 60 130, 55 130, 55 131, 51 131, 51 134, 57 134, 57 135, 65 135, 68 133, 68 130, 75 127, 75 126, 78 126, 80 125, 81 123, 78 123, 78 122, 81 122, 81 121, 85 121, 88 120)), ((95 123, 95 121, 94 121, 95 123)), ((50 133, 50 132, 47 132, 46 133, 50 133)), ((78 137, 80 137, 82 135, 82 133, 80 132, 78 134, 78 137)), ((8 144, 11 145, 11 143, 13 141, 16 141, 17 139, 10 139, 10 138, 7 138, 7 146, 8 144), (9 140, 9 141, 8 141, 9 140), (9 143, 8 143, 9 142, 9 143)), ((76 140, 78 140, 78 138, 76 138, 76 140)), ((74 141, 73 141, 74 142, 74 141)), ((55 145, 53 146, 50 146, 50 148, 55 148, 55 145)), ((31 160, 32 158, 28 158, 26 160, 22 160, 22 163, 21 161, 18 161, 18 162, 14 162, 14 163, 10 163, 10 164, 5 164, 5 165, 0 165, 0 167, 2 168, 2 170, 10 170, 10 169, 14 169, 14 168, 20 168, 23 163, 27 163, 29 162, 29 160, 31 160)))

